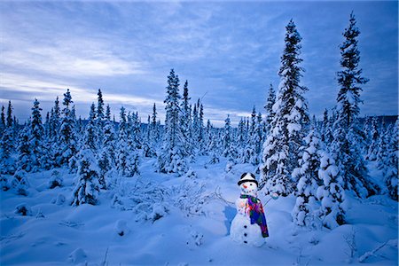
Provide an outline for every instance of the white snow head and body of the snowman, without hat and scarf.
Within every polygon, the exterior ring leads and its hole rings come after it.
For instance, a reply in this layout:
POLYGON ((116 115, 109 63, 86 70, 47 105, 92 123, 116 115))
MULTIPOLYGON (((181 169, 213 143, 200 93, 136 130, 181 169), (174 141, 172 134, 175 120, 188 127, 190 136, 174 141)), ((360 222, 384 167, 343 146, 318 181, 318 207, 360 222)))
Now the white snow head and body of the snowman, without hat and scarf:
MULTIPOLYGON (((256 197, 256 184, 246 182, 239 187, 241 194, 256 197)), ((231 222, 231 239, 244 245, 262 246, 265 239, 262 237, 261 227, 257 223, 251 224, 248 199, 239 198, 236 200, 236 207, 237 215, 231 222)))

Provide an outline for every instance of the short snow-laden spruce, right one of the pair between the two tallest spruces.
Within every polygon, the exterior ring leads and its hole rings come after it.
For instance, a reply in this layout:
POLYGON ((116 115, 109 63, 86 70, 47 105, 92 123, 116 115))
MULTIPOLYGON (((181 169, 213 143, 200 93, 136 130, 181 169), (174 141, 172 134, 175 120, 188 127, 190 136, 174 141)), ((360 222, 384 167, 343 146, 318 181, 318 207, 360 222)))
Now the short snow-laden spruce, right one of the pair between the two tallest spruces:
POLYGON ((323 181, 317 188, 317 199, 321 200, 318 216, 325 227, 333 229, 345 223, 345 191, 339 169, 328 153, 321 155, 318 177, 323 181))

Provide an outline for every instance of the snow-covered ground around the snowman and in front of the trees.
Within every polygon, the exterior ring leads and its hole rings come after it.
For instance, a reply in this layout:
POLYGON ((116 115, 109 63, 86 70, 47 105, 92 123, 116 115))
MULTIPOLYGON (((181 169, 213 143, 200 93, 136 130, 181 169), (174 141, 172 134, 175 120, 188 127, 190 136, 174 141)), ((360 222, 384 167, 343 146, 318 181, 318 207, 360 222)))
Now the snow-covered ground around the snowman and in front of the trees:
MULTIPOLYGON (((59 169, 64 185, 54 189, 48 188, 52 171, 29 174, 27 196, 0 192, 0 264, 397 265, 397 202, 387 196, 348 196, 347 224, 332 231, 308 231, 292 223, 293 196, 270 200, 261 193, 270 237, 261 247, 236 244, 229 237, 236 215, 231 202, 239 197, 239 176, 254 167, 240 164, 226 173, 225 160, 215 165, 207 165, 207 160, 199 157, 191 164, 196 174, 191 178, 155 173, 154 160, 143 160, 141 176, 123 178, 119 190, 125 196, 130 190, 130 198, 140 196, 140 186, 147 190, 144 186, 151 182, 166 192, 164 200, 143 205, 152 210, 141 213, 128 196, 113 205, 116 189, 101 191, 98 206, 71 207, 74 175, 66 168, 59 169), (184 189, 190 192, 190 186, 181 186, 187 178, 190 184, 203 184, 201 195, 209 197, 184 194, 184 189), (199 199, 204 204, 195 214, 182 208, 184 200, 190 207, 187 201, 199 199), (30 207, 30 214, 15 213, 20 204, 30 207)), ((371 173, 378 179, 378 171, 371 173)))

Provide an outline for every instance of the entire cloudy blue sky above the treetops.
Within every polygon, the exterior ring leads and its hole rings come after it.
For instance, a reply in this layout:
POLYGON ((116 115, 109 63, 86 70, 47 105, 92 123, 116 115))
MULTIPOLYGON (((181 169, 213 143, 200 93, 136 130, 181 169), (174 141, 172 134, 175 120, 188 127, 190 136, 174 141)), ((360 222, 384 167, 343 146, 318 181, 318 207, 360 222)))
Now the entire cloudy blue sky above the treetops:
MULTIPOLYGON (((287 2, 0 2, 0 105, 12 100, 25 121, 34 98, 50 110, 69 88, 87 117, 101 89, 143 121, 158 106, 163 120, 170 68, 189 82, 205 116, 236 123, 252 107, 263 112, 270 82, 278 87, 285 26, 302 36, 301 83, 309 111, 321 117, 338 91, 342 32, 354 11, 361 30, 364 85, 361 113, 398 113, 396 1, 287 2)), ((183 87, 183 86, 182 86, 183 87)))

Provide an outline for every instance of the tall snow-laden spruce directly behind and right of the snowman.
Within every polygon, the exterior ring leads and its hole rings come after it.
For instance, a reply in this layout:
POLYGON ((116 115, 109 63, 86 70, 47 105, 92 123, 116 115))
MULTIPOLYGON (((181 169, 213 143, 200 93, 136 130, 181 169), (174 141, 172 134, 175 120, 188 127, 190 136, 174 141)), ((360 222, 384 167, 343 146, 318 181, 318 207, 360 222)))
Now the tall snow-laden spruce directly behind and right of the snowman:
POLYGON ((266 193, 286 196, 293 192, 292 171, 298 165, 298 152, 309 122, 308 104, 303 97, 306 87, 300 85, 301 35, 293 20, 286 26, 286 47, 278 72, 281 82, 273 106, 275 115, 270 133, 263 145, 261 184, 266 193))

